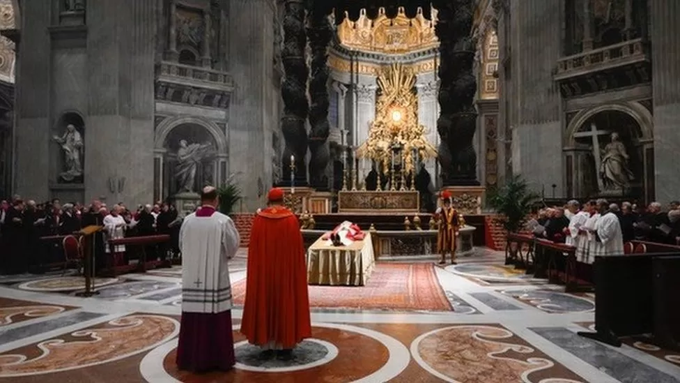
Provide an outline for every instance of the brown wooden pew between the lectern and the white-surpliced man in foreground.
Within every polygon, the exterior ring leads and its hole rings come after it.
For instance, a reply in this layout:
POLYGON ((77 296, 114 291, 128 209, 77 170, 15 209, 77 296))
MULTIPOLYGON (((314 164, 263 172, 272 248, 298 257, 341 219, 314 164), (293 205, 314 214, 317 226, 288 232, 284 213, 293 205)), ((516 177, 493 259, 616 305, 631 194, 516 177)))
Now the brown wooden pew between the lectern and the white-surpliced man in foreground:
POLYGON ((146 246, 150 245, 155 245, 157 243, 164 243, 164 242, 169 242, 170 241, 170 236, 168 234, 160 234, 160 235, 148 235, 148 236, 129 236, 125 238, 119 238, 119 239, 109 239, 109 248, 111 249, 111 253, 114 253, 114 248, 116 246, 121 246, 125 245, 125 253, 127 255, 130 255, 132 252, 132 249, 137 250, 137 257, 139 258, 139 262, 137 264, 124 264, 124 265, 115 265, 113 264, 114 260, 113 257, 107 257, 107 274, 113 274, 114 276, 117 276, 118 274, 121 273, 127 273, 131 271, 137 271, 139 273, 144 273, 146 272, 147 269, 155 269, 159 266, 171 266, 171 261, 170 260, 165 260, 165 261, 158 261, 158 260, 146 260, 146 246), (132 248, 132 249, 131 249, 132 248))

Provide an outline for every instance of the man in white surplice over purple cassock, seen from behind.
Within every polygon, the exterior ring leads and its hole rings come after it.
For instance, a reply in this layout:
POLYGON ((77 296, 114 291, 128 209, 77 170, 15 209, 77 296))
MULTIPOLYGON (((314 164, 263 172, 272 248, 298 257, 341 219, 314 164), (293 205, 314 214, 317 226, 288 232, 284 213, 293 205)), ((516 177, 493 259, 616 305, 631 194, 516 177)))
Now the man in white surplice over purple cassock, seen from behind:
POLYGON ((184 219, 182 251, 182 323, 177 366, 194 373, 230 370, 235 354, 231 323, 228 260, 240 236, 233 220, 219 213, 217 189, 206 186, 201 207, 184 219))

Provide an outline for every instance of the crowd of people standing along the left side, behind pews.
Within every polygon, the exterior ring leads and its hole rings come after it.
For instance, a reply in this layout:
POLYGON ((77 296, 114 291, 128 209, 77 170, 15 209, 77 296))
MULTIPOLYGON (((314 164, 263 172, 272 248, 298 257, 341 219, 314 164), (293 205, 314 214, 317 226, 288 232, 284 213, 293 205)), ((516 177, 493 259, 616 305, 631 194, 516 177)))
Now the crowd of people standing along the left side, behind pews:
POLYGON ((179 252, 180 222, 175 206, 163 202, 132 210, 123 202, 110 207, 99 200, 87 206, 58 199, 36 203, 15 195, 0 202, 0 273, 43 272, 46 265, 63 262, 61 243, 41 238, 72 234, 88 225, 104 226, 109 238, 169 234, 169 245, 150 249, 155 252, 150 257, 164 260, 179 252))

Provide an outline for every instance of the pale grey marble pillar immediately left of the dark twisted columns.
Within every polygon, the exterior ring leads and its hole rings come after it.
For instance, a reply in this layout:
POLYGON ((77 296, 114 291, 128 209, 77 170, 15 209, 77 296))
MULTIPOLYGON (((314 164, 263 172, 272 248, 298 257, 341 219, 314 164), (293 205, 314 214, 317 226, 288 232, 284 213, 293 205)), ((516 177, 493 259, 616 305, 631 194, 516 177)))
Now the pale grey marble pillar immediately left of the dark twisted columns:
MULTIPOLYGON (((236 91, 229 108, 226 173, 239 174, 236 181, 244 196, 239 209, 243 211, 263 206, 265 186, 272 184, 272 133, 279 126, 280 94, 274 86, 274 31, 262 25, 270 25, 274 11, 266 0, 231 0, 229 4, 229 73, 236 91)), ((289 163, 284 162, 284 174, 289 163)))

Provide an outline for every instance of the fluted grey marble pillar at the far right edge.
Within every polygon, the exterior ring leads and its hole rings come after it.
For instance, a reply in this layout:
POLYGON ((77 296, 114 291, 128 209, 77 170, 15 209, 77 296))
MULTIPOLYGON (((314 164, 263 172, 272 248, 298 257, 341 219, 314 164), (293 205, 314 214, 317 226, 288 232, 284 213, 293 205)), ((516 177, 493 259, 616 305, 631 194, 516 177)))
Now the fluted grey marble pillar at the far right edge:
POLYGON ((680 197, 680 2, 649 0, 656 200, 680 197))

